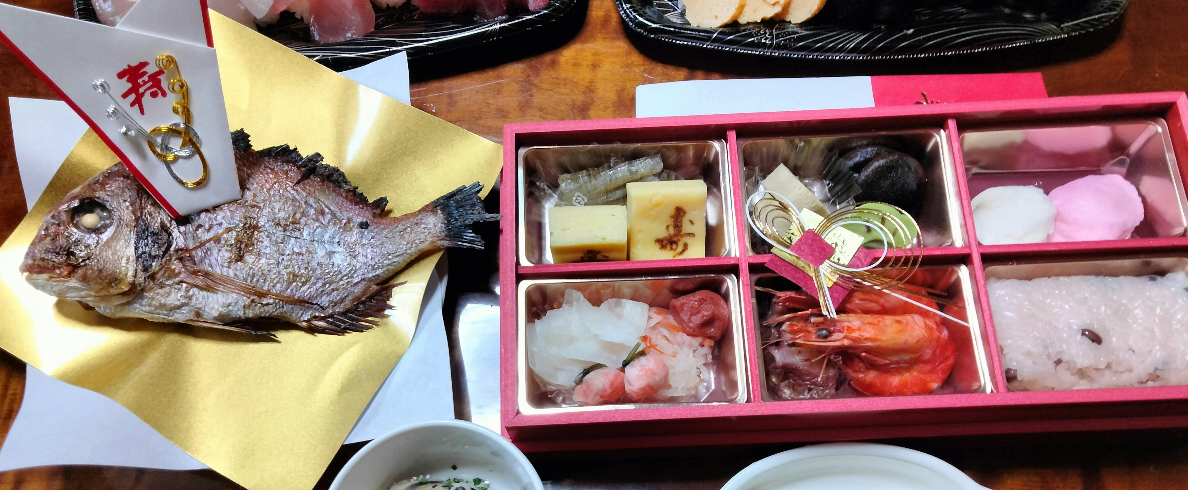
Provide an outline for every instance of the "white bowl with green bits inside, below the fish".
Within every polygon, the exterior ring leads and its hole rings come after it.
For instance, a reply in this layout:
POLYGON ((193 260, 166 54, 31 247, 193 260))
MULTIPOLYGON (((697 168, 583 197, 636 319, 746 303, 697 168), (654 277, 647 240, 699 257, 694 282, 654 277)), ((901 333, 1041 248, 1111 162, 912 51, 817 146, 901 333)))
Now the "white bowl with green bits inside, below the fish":
POLYGON ((413 424, 368 443, 347 462, 330 490, 387 490, 421 475, 480 477, 491 482, 491 490, 543 490, 524 453, 491 429, 463 420, 413 424), (450 467, 455 465, 456 471, 450 467))

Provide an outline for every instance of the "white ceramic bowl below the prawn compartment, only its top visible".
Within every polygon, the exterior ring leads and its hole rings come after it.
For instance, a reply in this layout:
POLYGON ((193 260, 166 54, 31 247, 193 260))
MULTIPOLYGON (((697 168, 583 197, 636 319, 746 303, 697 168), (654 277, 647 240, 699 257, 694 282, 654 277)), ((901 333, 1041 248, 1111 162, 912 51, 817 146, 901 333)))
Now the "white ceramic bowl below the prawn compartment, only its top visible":
POLYGON ((722 490, 987 490, 943 460, 899 446, 835 443, 754 462, 722 490))

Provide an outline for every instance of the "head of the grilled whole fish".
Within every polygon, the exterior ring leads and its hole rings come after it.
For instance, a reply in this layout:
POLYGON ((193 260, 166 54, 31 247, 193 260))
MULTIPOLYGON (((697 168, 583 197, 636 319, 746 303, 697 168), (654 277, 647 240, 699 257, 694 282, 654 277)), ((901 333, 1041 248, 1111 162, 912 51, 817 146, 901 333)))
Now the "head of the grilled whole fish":
MULTIPOLYGON (((25 253, 20 272, 37 289, 93 306, 116 305, 132 298, 156 269, 169 240, 147 250, 157 260, 138 260, 145 252, 146 219, 163 215, 152 197, 124 167, 115 165, 78 186, 45 215, 25 253), (147 197, 147 203, 145 197, 147 197), (147 206, 158 212, 147 212, 147 206), (145 267, 151 266, 151 267, 145 267)), ((168 216, 168 215, 166 215, 168 216)), ((159 219, 158 219, 159 221, 159 219)), ((147 227, 158 231, 160 228, 147 227)), ((151 244, 151 243, 150 243, 151 244)))

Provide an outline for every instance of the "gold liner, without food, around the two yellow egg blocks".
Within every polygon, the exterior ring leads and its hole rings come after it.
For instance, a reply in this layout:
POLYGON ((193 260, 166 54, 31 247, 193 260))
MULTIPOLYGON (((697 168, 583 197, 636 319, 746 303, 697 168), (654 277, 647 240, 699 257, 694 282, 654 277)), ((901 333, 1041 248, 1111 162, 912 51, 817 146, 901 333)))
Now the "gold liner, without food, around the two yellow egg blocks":
MULTIPOLYGON (((518 249, 522 266, 552 263, 548 208, 533 190, 542 182, 552 187, 563 173, 596 168, 612 159, 634 160, 659 154, 664 170, 700 176, 706 182, 706 256, 737 256, 734 201, 726 142, 721 140, 640 145, 532 146, 520 148, 517 165, 518 249)), ((680 259, 677 259, 680 260, 680 259)))

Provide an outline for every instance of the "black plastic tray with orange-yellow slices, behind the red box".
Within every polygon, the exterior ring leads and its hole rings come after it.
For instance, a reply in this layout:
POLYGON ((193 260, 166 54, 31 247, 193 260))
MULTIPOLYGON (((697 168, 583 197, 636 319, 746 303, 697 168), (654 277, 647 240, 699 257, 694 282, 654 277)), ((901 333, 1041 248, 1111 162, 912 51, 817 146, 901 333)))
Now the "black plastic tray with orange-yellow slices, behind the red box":
POLYGON ((678 0, 615 0, 627 28, 661 43, 775 58, 846 61, 941 57, 1067 39, 1110 26, 1126 2, 1095 0, 1081 13, 1059 20, 950 6, 918 8, 911 23, 872 28, 832 23, 826 12, 801 25, 764 21, 702 28, 689 25, 678 0))

